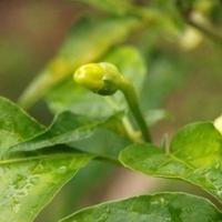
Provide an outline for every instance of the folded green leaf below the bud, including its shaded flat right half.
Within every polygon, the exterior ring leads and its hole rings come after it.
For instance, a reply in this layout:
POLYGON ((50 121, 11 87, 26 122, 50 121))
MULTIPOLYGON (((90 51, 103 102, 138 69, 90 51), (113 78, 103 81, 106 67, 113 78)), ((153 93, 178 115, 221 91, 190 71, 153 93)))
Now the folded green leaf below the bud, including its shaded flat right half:
POLYGON ((129 144, 129 141, 120 133, 110 130, 114 121, 115 117, 93 121, 64 111, 49 128, 30 140, 14 145, 11 151, 37 151, 67 144, 83 152, 117 160, 119 152, 129 144))

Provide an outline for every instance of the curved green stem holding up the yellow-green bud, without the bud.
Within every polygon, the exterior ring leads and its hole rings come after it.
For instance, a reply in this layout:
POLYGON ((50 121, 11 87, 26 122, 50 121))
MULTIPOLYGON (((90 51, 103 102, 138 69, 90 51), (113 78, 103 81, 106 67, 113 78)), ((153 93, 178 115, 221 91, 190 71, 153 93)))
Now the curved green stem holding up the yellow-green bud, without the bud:
POLYGON ((143 139, 147 142, 151 142, 151 134, 149 132, 149 128, 140 110, 140 105, 138 103, 138 97, 137 97, 133 85, 125 79, 122 79, 121 83, 119 84, 119 89, 122 91, 122 93, 125 97, 125 100, 130 107, 130 110, 132 111, 132 114, 142 132, 143 139))

